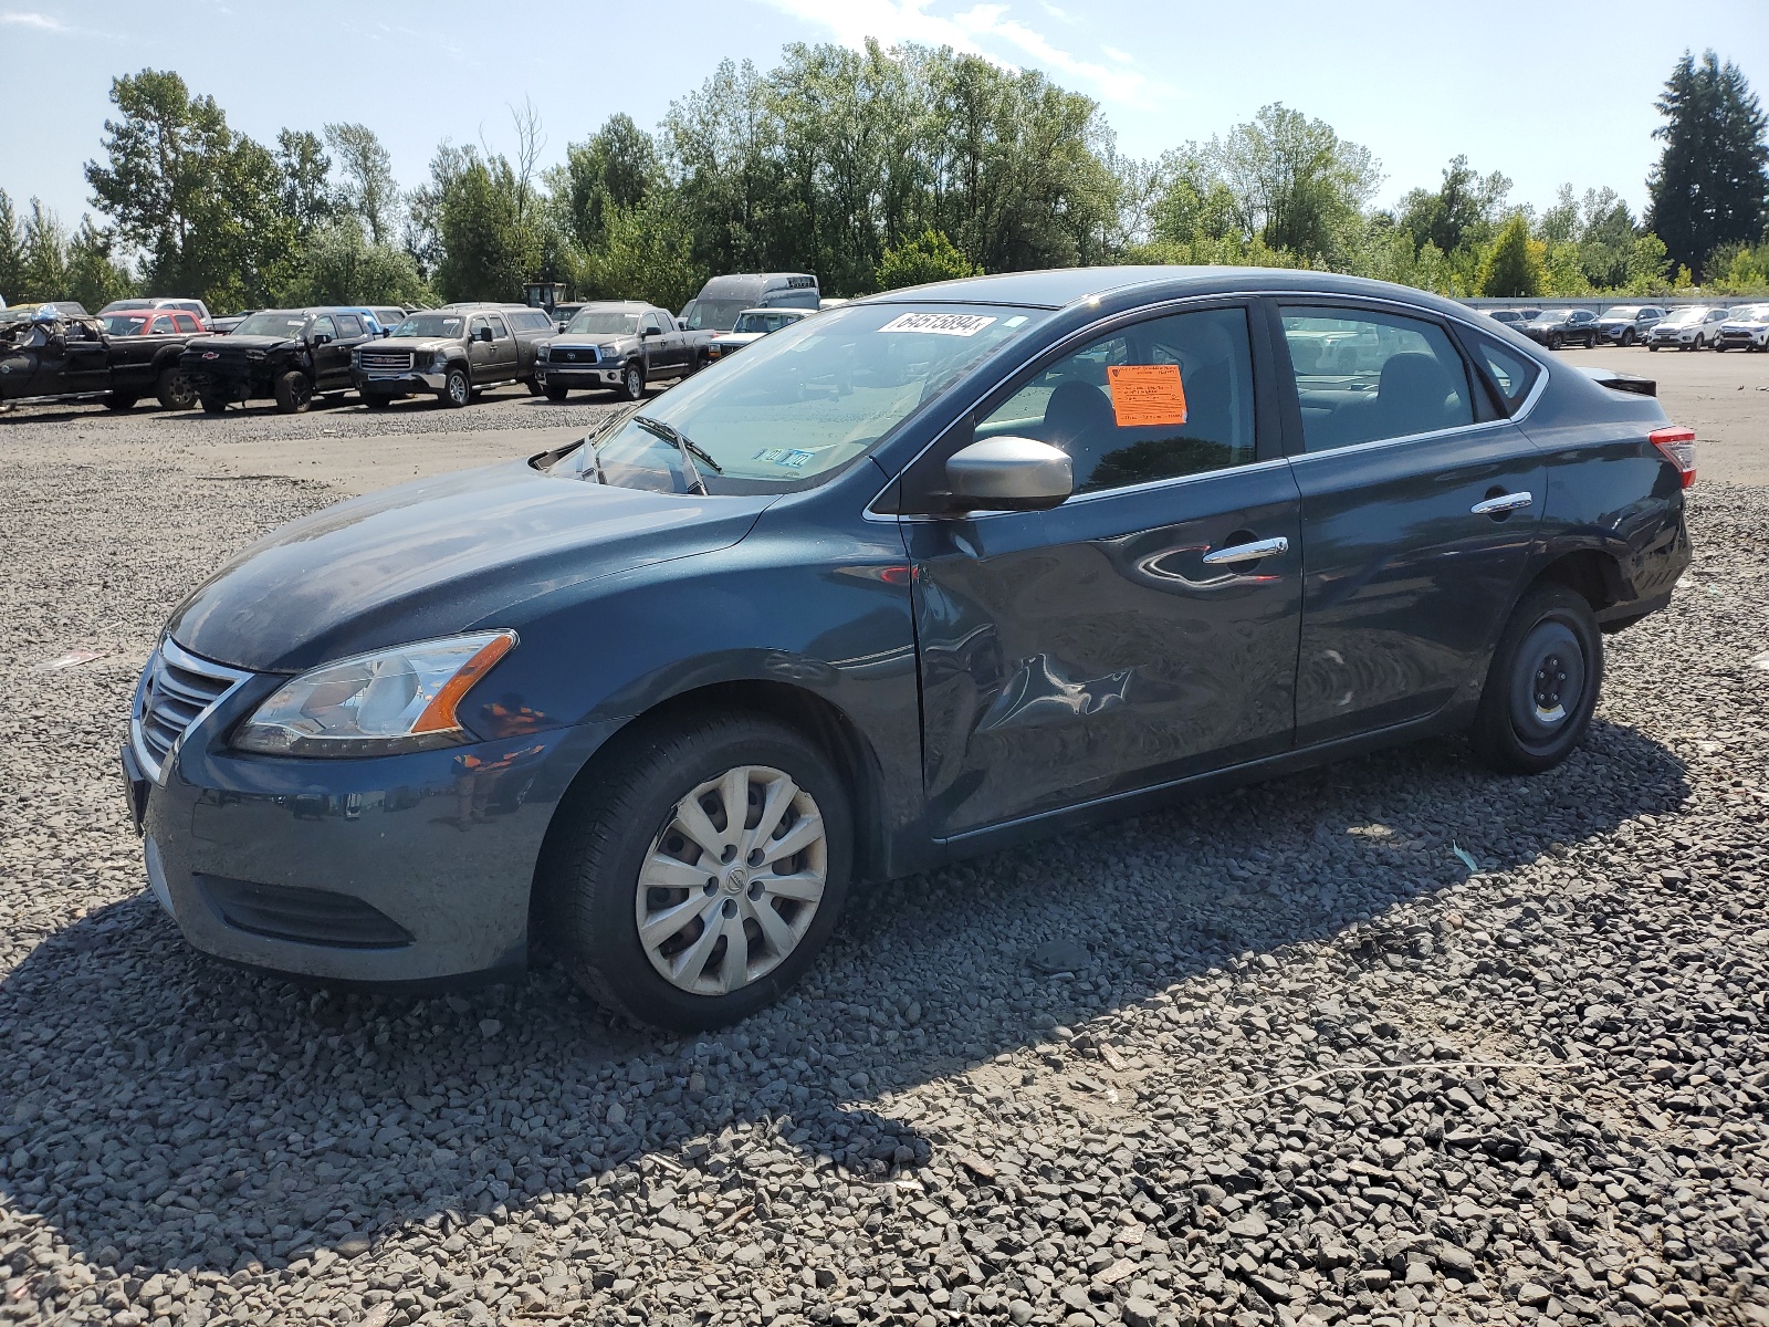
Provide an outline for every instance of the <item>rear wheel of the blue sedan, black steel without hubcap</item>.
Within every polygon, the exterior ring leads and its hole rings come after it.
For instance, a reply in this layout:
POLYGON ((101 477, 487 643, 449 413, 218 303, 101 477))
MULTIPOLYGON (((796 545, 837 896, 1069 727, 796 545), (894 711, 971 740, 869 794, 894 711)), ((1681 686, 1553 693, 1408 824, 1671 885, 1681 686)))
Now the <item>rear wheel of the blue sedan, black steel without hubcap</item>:
POLYGON ((1541 773, 1590 727, 1603 687, 1603 632, 1585 596, 1530 589, 1505 623, 1481 690, 1474 748, 1502 773, 1541 773))

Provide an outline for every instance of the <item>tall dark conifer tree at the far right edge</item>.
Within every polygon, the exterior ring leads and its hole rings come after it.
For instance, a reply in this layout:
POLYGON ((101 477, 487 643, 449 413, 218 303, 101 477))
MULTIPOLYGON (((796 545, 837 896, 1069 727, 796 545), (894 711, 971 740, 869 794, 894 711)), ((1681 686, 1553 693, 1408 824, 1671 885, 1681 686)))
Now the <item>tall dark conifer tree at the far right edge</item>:
POLYGON ((1647 228, 1670 260, 1702 276, 1727 241, 1755 242, 1769 212, 1769 142, 1757 96, 1730 60, 1684 51, 1658 99, 1665 143, 1647 179, 1647 228))

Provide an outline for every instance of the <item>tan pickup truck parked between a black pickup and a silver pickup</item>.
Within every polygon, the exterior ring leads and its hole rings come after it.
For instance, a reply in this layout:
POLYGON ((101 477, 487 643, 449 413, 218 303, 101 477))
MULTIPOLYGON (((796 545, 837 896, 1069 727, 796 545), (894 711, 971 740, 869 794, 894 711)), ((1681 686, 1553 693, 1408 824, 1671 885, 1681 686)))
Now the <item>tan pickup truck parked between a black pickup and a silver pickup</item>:
POLYGON ((357 347, 350 380, 371 410, 419 395, 465 405, 501 382, 540 391, 534 347, 552 331, 552 315, 525 304, 444 304, 409 315, 386 340, 357 347))

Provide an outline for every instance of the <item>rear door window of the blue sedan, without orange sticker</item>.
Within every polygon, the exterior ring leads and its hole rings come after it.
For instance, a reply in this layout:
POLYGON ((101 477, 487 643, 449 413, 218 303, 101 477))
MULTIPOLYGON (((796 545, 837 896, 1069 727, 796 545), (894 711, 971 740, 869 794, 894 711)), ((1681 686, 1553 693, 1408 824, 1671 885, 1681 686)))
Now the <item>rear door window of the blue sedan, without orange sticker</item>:
POLYGON ((1474 423, 1468 370, 1435 322, 1329 306, 1279 313, 1307 451, 1474 423))

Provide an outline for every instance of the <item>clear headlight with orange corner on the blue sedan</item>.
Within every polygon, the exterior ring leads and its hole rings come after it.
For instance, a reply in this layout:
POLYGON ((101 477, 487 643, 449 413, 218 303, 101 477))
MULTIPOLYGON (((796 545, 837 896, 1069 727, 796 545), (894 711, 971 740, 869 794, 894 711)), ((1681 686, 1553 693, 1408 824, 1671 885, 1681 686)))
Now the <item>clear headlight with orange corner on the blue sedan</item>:
POLYGON ((322 664, 285 683, 234 734, 267 756, 391 756, 469 740, 455 706, 515 632, 474 632, 322 664))

